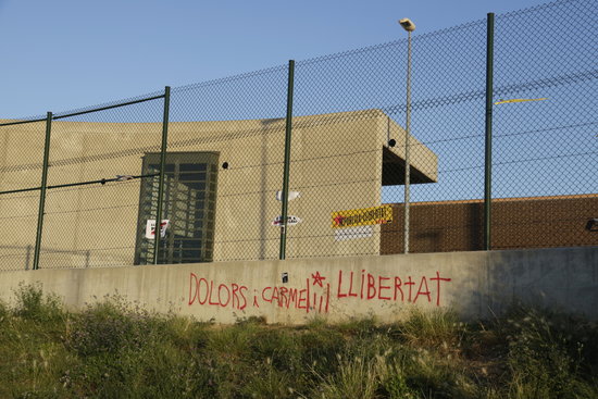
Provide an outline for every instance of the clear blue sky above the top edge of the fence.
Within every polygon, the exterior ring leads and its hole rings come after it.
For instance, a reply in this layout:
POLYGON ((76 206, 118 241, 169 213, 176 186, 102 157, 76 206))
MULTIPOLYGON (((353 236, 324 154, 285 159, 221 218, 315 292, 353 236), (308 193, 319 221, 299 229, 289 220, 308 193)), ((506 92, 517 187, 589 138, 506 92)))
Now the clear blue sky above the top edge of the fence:
POLYGON ((0 119, 304 60, 544 0, 0 0, 0 119))

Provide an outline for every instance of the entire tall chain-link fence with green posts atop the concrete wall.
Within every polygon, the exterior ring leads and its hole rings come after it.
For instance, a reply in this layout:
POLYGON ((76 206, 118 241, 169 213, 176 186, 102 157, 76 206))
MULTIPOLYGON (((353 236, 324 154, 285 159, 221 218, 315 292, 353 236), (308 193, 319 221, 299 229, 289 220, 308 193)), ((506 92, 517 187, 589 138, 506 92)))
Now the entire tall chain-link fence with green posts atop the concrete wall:
POLYGON ((596 246, 597 5, 2 121, 0 270, 596 246))

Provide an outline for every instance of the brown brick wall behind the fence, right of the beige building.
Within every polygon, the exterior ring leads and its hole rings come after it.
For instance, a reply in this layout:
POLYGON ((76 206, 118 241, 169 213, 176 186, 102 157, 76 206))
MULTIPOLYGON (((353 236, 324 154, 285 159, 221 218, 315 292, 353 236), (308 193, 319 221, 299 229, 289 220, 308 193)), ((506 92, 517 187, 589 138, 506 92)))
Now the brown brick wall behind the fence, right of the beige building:
MULTIPOLYGON (((396 223, 382 226, 381 253, 403 251, 403 207, 393 204, 396 223)), ((585 229, 598 216, 598 195, 495 199, 491 248, 598 245, 585 229)), ((411 252, 474 251, 484 248, 484 202, 415 202, 410 209, 411 252)))

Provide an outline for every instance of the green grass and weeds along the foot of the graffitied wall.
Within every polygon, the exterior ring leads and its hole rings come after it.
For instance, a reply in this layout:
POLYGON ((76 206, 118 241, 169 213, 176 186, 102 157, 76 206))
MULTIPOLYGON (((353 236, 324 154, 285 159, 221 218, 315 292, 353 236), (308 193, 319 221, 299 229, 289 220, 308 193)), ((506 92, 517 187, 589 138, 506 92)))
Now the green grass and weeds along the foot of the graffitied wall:
POLYGON ((597 398, 598 327, 514 308, 463 324, 232 326, 119 298, 65 311, 39 287, 0 303, 1 398, 597 398))

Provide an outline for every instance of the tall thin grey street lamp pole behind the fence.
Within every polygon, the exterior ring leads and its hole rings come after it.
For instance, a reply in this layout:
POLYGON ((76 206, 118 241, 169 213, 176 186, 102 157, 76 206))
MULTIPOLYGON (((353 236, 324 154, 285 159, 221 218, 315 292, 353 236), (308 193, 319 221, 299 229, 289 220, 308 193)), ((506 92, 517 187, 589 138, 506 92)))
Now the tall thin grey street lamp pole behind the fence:
POLYGON ((399 24, 407 30, 407 121, 404 124, 404 247, 403 252, 409 253, 409 195, 411 188, 411 162, 409 159, 409 137, 411 135, 411 33, 415 30, 415 24, 409 18, 402 18, 399 24))

